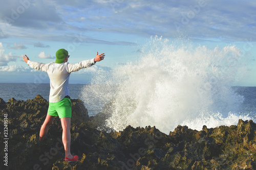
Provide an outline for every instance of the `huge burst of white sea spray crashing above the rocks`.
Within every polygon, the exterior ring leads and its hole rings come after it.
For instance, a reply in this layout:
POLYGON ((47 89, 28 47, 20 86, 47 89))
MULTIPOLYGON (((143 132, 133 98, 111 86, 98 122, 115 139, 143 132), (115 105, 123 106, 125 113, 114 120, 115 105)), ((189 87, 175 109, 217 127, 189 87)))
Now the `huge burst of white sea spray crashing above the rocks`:
POLYGON ((115 68, 105 81, 112 89, 101 95, 112 99, 110 128, 150 125, 168 134, 178 125, 201 130, 249 118, 238 114, 244 98, 231 88, 243 64, 236 46, 211 50, 152 37, 140 52, 138 61, 115 68))

